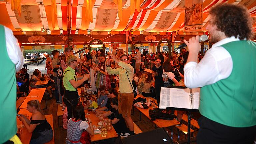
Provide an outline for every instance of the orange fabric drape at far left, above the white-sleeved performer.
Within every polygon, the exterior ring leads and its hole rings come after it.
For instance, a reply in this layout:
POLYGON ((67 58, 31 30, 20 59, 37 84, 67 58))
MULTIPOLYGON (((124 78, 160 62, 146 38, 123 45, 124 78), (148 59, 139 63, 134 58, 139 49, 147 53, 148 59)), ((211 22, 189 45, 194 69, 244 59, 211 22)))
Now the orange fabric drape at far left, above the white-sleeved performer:
POLYGON ((0 3, 0 13, 2 15, 0 19, 0 24, 8 27, 12 31, 18 31, 14 28, 4 3, 0 3))

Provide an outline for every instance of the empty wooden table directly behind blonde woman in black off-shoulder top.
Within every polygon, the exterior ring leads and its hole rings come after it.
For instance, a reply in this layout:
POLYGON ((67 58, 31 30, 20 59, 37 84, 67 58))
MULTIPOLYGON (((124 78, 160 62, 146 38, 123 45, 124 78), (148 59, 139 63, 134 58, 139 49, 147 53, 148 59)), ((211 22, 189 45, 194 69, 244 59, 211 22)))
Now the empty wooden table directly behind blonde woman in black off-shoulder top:
MULTIPOLYGON (((29 95, 24 100, 24 102, 21 104, 20 109, 27 108, 27 102, 30 100, 38 100, 41 103, 45 90, 46 90, 46 88, 32 89, 31 92, 29 93, 29 95), (33 96, 37 96, 37 97, 33 97, 33 96)), ((46 99, 45 99, 45 105, 47 108, 46 99)))

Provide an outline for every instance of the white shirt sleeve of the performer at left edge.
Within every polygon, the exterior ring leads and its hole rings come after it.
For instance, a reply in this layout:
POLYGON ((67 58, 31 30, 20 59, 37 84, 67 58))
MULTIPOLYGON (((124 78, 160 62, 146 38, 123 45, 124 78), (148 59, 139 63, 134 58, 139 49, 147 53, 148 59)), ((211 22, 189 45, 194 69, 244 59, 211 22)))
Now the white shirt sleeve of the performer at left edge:
POLYGON ((11 61, 16 65, 16 71, 19 71, 24 64, 25 59, 21 53, 20 46, 18 45, 18 40, 13 35, 12 30, 5 26, 4 30, 8 56, 10 57, 11 61))

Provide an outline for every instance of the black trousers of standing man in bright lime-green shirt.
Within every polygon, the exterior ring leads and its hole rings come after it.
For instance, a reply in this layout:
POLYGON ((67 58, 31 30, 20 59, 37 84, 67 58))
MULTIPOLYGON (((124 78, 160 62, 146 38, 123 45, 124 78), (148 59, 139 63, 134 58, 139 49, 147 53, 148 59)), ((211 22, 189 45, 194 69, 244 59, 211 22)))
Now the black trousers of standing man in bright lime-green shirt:
POLYGON ((65 90, 63 101, 67 106, 68 120, 73 117, 75 107, 78 104, 78 94, 76 91, 65 90))

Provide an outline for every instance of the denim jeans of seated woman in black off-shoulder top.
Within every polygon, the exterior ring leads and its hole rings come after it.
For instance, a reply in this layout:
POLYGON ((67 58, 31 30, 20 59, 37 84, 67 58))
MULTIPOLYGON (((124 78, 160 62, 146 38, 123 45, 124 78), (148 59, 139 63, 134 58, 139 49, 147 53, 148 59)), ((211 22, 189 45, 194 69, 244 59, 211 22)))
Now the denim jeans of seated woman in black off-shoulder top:
POLYGON ((40 136, 37 139, 31 139, 30 144, 44 144, 53 139, 52 129, 39 132, 40 136))

